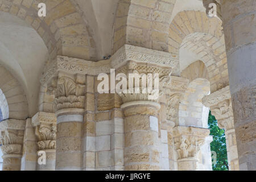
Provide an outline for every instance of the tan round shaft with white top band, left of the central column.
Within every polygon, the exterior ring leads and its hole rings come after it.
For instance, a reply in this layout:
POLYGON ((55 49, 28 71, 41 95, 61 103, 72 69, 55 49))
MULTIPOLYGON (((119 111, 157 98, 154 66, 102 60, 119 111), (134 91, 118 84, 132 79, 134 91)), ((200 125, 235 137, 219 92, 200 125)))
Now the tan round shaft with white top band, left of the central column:
POLYGON ((82 169, 83 109, 59 110, 57 116, 56 170, 82 169))

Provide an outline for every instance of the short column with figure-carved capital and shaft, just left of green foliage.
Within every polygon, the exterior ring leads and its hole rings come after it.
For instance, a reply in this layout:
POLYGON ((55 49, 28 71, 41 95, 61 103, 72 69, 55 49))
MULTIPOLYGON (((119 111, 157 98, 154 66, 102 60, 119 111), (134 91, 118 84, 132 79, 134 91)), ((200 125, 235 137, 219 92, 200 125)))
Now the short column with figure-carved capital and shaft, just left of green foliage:
POLYGON ((210 131, 199 127, 174 127, 174 143, 179 155, 177 166, 179 171, 196 171, 198 169, 198 156, 200 147, 210 131))

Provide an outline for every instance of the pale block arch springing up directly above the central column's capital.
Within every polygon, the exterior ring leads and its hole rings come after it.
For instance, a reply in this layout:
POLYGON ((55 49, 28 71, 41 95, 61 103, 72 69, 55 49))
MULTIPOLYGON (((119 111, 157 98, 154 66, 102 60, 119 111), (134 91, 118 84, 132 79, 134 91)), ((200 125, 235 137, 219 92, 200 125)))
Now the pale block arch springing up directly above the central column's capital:
POLYGON ((168 52, 168 28, 176 0, 119 0, 113 27, 115 53, 124 44, 168 52))

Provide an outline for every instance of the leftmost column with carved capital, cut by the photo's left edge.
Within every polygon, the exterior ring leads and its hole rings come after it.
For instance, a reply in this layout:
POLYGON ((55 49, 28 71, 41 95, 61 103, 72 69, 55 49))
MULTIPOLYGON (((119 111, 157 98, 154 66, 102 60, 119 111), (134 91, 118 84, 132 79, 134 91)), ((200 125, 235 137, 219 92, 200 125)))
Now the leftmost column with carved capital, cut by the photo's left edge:
POLYGON ((26 121, 8 119, 0 123, 3 171, 19 171, 26 121))

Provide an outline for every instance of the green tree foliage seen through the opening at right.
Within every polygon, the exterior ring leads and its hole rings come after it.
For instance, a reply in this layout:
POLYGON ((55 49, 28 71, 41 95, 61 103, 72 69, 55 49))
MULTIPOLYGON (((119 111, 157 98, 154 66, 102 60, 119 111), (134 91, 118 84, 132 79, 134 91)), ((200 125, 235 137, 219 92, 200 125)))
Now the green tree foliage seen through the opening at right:
POLYGON ((220 129, 217 125, 216 118, 209 113, 208 127, 213 141, 210 143, 210 150, 217 154, 217 163, 212 164, 213 171, 228 171, 228 156, 226 152, 226 139, 224 129, 220 129))

